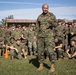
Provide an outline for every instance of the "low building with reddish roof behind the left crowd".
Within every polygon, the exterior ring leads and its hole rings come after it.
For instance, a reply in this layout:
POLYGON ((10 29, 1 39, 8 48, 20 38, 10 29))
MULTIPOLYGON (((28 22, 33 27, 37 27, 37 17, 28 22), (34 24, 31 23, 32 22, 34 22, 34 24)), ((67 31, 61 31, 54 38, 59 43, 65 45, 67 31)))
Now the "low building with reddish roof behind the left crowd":
POLYGON ((29 26, 31 24, 36 24, 36 20, 28 20, 28 19, 7 19, 6 20, 6 26, 7 27, 10 27, 12 25, 15 25, 16 27, 18 25, 29 26))

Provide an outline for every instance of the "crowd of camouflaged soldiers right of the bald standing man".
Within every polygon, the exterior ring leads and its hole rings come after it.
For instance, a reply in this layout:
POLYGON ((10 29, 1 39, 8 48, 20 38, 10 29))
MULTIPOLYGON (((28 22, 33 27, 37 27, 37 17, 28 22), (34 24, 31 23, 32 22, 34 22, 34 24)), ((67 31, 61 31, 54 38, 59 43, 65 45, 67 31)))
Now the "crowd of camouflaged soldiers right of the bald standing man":
POLYGON ((55 32, 55 36, 57 35, 55 38, 57 47, 55 49, 62 51, 60 54, 64 57, 76 57, 76 20, 73 20, 73 22, 59 21, 55 32), (60 45, 58 45, 57 41, 59 41, 60 45))

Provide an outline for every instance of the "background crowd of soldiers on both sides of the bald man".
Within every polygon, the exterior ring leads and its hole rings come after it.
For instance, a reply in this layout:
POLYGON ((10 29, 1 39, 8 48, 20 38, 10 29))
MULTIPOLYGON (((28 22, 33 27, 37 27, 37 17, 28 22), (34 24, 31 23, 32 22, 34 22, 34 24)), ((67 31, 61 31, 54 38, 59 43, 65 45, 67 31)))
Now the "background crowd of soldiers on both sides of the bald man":
MULTIPOLYGON (((66 23, 64 20, 59 19, 57 27, 53 28, 53 32, 55 42, 54 50, 57 52, 57 59, 62 56, 65 57, 65 53, 68 55, 68 58, 73 58, 74 55, 76 56, 76 53, 74 54, 73 52, 76 50, 76 48, 71 50, 73 49, 72 47, 76 46, 76 21, 73 20, 73 22, 66 23), (61 54, 58 53, 58 50, 61 54)), ((17 27, 15 27, 15 25, 10 27, 1 26, 0 56, 3 56, 6 45, 9 47, 9 54, 13 51, 20 51, 24 58, 26 58, 27 55, 37 55, 37 37, 35 32, 35 24, 30 24, 29 27, 21 27, 20 25, 17 27), (20 44, 20 47, 22 47, 24 50, 19 50, 20 48, 14 50, 13 48, 16 48, 17 44, 20 44)), ((14 54, 12 56, 14 56, 14 54)))

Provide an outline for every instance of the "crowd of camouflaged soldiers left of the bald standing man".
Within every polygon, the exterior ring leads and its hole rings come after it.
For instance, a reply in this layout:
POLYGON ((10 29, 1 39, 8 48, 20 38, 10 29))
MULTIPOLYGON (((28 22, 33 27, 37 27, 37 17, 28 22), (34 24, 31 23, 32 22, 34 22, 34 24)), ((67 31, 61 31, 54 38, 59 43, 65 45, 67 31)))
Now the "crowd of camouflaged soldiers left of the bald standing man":
POLYGON ((37 39, 34 35, 34 24, 29 27, 15 25, 11 27, 0 27, 0 56, 5 53, 7 47, 11 59, 27 58, 28 55, 35 55, 37 50, 37 39))

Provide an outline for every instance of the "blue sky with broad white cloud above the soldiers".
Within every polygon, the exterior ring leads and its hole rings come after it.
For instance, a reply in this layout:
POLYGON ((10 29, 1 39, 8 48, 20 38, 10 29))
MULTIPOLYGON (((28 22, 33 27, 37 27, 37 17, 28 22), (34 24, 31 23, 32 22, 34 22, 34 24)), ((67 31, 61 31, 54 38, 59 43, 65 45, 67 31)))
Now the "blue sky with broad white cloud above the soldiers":
POLYGON ((0 0, 0 20, 9 15, 15 19, 37 19, 42 4, 60 19, 76 19, 76 0, 0 0))

